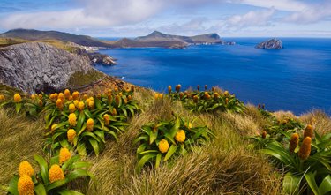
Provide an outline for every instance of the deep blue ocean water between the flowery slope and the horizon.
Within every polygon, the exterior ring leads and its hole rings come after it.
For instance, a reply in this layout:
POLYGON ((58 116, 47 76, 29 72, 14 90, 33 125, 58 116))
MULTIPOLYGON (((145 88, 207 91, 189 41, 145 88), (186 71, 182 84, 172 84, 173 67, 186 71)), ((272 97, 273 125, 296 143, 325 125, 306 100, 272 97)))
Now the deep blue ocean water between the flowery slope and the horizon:
POLYGON ((125 81, 166 91, 220 86, 269 110, 291 110, 297 115, 312 109, 331 114, 331 39, 282 38, 284 49, 255 49, 265 38, 229 38, 237 45, 201 45, 187 49, 111 49, 116 66, 96 65, 125 81))

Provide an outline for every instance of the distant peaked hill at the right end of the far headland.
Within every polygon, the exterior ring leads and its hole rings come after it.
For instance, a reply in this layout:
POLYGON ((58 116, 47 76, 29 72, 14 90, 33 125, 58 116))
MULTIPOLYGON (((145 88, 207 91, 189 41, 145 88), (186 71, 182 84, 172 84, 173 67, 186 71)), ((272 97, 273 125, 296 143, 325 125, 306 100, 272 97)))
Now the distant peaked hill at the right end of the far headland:
POLYGON ((196 36, 179 36, 173 34, 163 34, 159 31, 154 31, 147 36, 140 36, 135 41, 183 41, 189 44, 197 43, 222 43, 222 39, 218 34, 201 34, 196 36))

